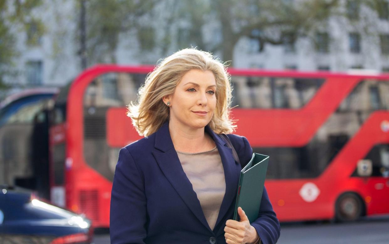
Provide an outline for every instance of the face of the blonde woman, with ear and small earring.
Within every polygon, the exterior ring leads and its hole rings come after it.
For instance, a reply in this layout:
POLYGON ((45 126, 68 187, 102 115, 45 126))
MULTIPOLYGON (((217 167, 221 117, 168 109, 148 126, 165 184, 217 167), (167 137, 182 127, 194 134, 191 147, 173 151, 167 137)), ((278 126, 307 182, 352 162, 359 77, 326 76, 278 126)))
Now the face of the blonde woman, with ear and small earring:
POLYGON ((170 123, 199 129, 208 125, 216 107, 215 75, 207 70, 189 70, 177 84, 170 102, 170 123))

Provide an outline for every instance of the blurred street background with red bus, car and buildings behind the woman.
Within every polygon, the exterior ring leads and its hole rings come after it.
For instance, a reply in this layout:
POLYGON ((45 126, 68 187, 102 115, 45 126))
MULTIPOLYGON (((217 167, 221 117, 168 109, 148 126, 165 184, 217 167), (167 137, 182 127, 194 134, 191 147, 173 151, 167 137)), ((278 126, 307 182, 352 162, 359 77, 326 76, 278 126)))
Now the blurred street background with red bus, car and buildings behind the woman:
POLYGON ((278 243, 389 243, 388 0, 0 0, 0 243, 109 243, 125 106, 188 47, 229 65, 278 243))

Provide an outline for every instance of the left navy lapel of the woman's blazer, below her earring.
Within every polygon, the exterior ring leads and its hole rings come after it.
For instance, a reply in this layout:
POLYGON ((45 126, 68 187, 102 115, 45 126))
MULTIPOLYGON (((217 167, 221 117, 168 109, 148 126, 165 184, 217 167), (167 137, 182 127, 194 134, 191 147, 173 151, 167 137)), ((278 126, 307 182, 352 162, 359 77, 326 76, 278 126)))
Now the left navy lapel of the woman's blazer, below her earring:
POLYGON ((180 195, 185 204, 191 209, 196 218, 205 225, 210 232, 207 219, 205 219, 200 201, 197 198, 193 186, 182 169, 180 160, 174 149, 169 132, 169 124, 166 122, 157 132, 155 137, 155 147, 152 153, 173 188, 180 195))

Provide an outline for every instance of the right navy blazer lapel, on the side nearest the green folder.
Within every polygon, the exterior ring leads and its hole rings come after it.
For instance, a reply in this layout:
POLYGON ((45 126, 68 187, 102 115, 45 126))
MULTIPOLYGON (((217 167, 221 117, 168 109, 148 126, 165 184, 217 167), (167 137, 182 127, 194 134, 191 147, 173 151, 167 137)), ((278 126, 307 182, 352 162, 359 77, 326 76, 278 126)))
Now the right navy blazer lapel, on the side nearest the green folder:
POLYGON ((223 201, 221 203, 219 216, 217 216, 216 226, 223 219, 224 215, 228 212, 232 201, 235 199, 238 190, 238 181, 240 177, 241 166, 235 162, 232 149, 226 145, 223 139, 221 139, 216 133, 214 133, 209 126, 205 127, 205 131, 211 135, 216 143, 217 150, 221 157, 224 168, 224 178, 226 179, 226 193, 224 194, 223 201))

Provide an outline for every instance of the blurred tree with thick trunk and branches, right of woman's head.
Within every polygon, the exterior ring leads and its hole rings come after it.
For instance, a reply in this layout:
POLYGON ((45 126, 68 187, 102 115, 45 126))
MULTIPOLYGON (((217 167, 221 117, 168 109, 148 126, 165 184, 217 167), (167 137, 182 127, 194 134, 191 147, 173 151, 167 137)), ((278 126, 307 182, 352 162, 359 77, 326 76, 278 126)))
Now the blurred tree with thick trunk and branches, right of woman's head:
POLYGON ((337 10, 339 2, 216 0, 214 4, 223 35, 220 43, 223 60, 233 60, 233 49, 241 37, 258 39, 260 49, 263 49, 265 44, 284 44, 285 33, 290 42, 307 36, 337 10))

